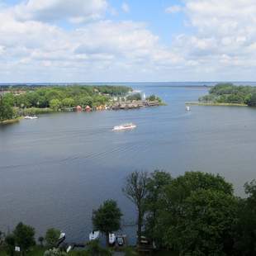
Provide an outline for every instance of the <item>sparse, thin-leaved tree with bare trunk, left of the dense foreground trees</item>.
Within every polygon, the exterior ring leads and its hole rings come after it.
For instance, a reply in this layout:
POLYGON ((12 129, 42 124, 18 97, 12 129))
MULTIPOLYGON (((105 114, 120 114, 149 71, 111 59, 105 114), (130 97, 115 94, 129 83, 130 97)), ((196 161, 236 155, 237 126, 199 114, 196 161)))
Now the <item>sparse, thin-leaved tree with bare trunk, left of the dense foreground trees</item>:
POLYGON ((148 173, 135 171, 126 178, 126 183, 122 189, 126 197, 132 201, 138 212, 137 217, 137 244, 140 245, 143 219, 145 215, 145 198, 147 196, 148 173))

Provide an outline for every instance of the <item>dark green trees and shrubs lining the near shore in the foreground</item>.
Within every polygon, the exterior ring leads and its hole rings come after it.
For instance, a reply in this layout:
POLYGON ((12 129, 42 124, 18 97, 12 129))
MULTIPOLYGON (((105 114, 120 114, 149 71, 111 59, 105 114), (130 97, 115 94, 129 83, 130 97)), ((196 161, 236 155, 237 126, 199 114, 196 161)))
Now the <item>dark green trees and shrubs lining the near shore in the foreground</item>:
MULTIPOLYGON (((154 241, 156 255, 256 255, 256 181, 245 183, 246 197, 241 198, 220 175, 187 172, 173 178, 164 171, 135 171, 127 176, 122 191, 137 210, 137 246, 126 255, 139 255, 144 246, 141 235, 154 241)), ((108 233, 121 229, 122 217, 116 201, 107 200, 92 211, 92 225, 107 238, 108 233)), ((59 232, 50 229, 38 239, 42 249, 48 249, 45 256, 68 255, 61 249, 50 250, 59 232)), ((12 255, 15 244, 26 254, 36 244, 35 230, 22 223, 11 234, 1 234, 0 255, 1 249, 12 255)), ((112 255, 112 249, 89 243, 85 250, 71 255, 112 255)))

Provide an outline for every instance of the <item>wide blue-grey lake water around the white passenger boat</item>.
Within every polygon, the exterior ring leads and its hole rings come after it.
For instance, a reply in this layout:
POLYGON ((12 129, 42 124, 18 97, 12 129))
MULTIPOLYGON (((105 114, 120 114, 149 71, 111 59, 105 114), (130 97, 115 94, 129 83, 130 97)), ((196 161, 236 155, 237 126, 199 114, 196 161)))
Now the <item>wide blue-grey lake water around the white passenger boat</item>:
MULTIPOLYGON (((164 169, 173 177, 190 170, 220 173, 244 196, 244 183, 255 178, 256 109, 185 111, 185 102, 197 101, 208 89, 128 85, 159 95, 168 106, 42 115, 0 127, 0 230, 23 221, 37 235, 55 227, 69 241, 85 241, 92 209, 108 198, 118 201, 124 225, 132 224, 135 207, 121 187, 136 169, 164 169), (111 131, 124 122, 137 128, 111 131)), ((135 241, 134 227, 121 232, 135 241)))

